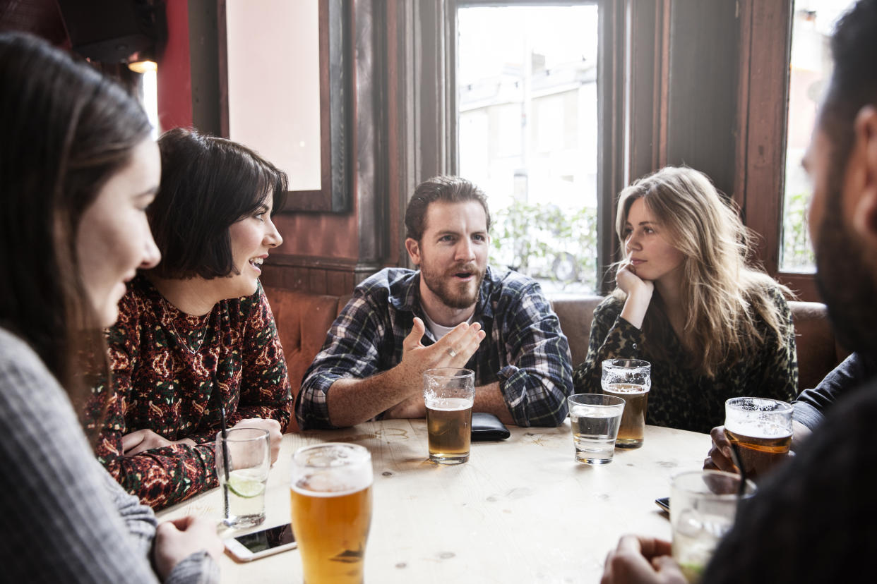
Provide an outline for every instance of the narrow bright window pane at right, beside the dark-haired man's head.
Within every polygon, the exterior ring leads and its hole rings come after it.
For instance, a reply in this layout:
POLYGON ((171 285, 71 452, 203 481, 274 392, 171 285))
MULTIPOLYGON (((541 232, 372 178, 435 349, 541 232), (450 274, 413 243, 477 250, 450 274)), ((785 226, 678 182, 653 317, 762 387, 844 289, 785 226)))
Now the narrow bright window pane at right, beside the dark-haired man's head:
POLYGON ((831 76, 829 38, 852 0, 798 0, 792 18, 792 46, 788 82, 786 180, 783 193, 780 270, 816 271, 809 240, 806 211, 810 185, 801 160, 824 85, 831 76))

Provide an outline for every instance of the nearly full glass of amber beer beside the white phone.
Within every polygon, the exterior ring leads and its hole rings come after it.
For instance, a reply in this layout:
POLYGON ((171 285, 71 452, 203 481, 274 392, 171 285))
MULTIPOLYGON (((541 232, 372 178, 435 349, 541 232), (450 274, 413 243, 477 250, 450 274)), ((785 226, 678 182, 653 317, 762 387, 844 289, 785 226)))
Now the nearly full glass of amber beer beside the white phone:
POLYGON ((327 442, 292 455, 292 532, 308 584, 362 584, 372 523, 372 456, 327 442))

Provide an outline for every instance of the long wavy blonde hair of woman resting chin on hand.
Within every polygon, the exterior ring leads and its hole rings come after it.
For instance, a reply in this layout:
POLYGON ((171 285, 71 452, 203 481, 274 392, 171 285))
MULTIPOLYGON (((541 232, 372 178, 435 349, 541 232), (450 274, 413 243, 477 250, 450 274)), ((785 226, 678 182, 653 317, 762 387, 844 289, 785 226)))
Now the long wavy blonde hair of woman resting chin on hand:
MULTIPOLYGON (((784 285, 747 264, 752 235, 737 211, 725 202, 702 172, 688 167, 667 166, 636 180, 618 195, 616 232, 624 250, 624 223, 634 201, 642 199, 662 226, 667 243, 685 256, 681 298, 689 369, 714 377, 725 362, 738 362, 764 345, 765 329, 787 342, 788 323, 771 293, 792 298, 784 285)), ((612 294, 624 299, 616 289, 612 294)), ((667 340, 672 334, 660 294, 652 297, 645 314, 643 332, 649 341, 646 352, 669 358, 667 340), (657 310, 655 310, 657 308, 657 310)))

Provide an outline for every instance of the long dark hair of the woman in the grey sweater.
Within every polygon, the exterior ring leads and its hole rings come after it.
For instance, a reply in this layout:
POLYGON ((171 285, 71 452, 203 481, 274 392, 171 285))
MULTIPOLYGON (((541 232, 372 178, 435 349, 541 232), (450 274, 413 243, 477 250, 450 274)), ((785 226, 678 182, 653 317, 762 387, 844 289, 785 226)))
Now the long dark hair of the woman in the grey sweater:
POLYGON ((106 369, 77 229, 150 130, 139 103, 88 65, 0 33, 0 325, 27 341, 75 404, 89 390, 82 372, 106 369))

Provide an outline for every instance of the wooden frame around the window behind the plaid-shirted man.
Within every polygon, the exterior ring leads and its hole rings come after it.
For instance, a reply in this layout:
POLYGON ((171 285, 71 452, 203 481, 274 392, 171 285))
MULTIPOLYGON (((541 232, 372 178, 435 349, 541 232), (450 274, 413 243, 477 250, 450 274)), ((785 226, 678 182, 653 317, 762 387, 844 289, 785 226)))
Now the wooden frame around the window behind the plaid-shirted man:
MULTIPOLYGON (((401 3, 407 4, 407 3, 401 3)), ((402 92, 403 113, 410 122, 400 123, 395 135, 408 152, 410 164, 400 169, 397 183, 404 208, 419 179, 435 174, 454 174, 459 160, 456 149, 457 9, 461 6, 596 4, 600 20, 597 49, 598 81, 598 287, 606 293, 614 287, 608 277, 617 261, 619 246, 614 234, 617 193, 631 179, 631 172, 645 173, 662 163, 666 154, 656 148, 666 137, 661 123, 661 95, 667 92, 666 55, 670 0, 435 0, 396 7, 394 21, 401 25, 395 47, 392 75, 402 92), (412 36, 409 36, 409 32, 412 36), (413 39, 417 39, 417 47, 413 39), (657 72, 656 72, 656 64, 657 72), (631 79, 638 80, 634 86, 631 79), (407 127, 403 127, 403 125, 407 127), (645 144, 645 145, 643 145, 645 144)), ((391 53, 394 51, 391 47, 391 53)), ((637 175, 638 176, 638 175, 637 175)), ((403 236, 399 237, 403 241, 403 236)), ((405 257, 400 253, 400 257, 405 257)))

